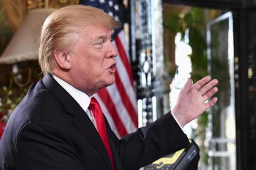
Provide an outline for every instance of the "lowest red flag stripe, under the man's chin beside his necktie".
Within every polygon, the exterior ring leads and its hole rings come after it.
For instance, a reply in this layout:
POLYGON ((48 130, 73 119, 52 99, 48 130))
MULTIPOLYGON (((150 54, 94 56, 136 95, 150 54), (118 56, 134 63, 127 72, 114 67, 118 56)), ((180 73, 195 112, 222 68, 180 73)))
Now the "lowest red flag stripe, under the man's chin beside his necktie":
POLYGON ((100 99, 102 99, 103 103, 106 106, 108 106, 108 109, 111 110, 111 111, 109 111, 109 113, 113 118, 113 122, 115 122, 117 131, 119 132, 120 137, 126 135, 127 130, 125 129, 123 123, 121 122, 120 117, 117 114, 117 110, 115 110, 115 105, 114 105, 112 99, 110 98, 110 96, 107 92, 107 89, 103 88, 100 91, 98 91, 97 94, 98 94, 98 96, 100 96, 100 99))

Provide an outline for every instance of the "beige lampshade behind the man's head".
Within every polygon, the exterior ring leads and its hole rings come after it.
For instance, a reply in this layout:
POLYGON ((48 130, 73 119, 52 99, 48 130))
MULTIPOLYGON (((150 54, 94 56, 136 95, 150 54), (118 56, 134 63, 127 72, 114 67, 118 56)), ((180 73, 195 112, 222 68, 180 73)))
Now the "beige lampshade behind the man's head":
POLYGON ((0 57, 0 64, 13 64, 25 60, 38 60, 40 31, 44 20, 55 9, 32 9, 20 29, 0 57))

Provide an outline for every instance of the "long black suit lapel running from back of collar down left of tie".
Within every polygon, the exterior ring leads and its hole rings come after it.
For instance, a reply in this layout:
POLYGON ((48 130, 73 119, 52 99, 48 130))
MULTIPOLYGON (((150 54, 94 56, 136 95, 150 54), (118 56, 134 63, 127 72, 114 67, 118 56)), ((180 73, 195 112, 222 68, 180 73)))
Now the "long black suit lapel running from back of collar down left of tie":
POLYGON ((47 89, 49 89, 54 96, 59 99, 67 113, 74 116, 73 123, 78 130, 88 139, 98 152, 102 155, 102 159, 105 161, 107 169, 112 170, 112 165, 107 154, 107 150, 98 134, 96 128, 91 122, 90 118, 84 113, 83 108, 78 105, 74 98, 67 93, 67 91, 59 85, 50 74, 45 74, 43 83, 47 89))

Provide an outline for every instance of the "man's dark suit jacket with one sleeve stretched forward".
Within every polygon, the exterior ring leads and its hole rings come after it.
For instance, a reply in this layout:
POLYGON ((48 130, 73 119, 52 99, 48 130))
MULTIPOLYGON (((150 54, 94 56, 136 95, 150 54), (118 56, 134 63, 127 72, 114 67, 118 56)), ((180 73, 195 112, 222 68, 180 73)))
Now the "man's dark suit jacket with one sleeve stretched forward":
MULTIPOLYGON (((132 170, 182 149, 187 136, 166 113, 119 140, 107 123, 116 170, 132 170)), ((0 169, 111 170, 98 132, 81 106, 50 74, 33 84, 0 141, 0 169)))

